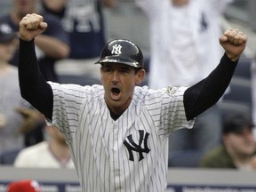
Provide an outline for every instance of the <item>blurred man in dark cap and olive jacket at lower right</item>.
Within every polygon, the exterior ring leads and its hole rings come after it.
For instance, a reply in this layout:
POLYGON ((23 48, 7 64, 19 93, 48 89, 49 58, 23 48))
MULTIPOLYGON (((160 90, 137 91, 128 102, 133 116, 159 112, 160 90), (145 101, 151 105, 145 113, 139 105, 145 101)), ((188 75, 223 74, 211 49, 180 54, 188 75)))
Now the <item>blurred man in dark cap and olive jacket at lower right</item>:
POLYGON ((222 144, 203 156, 204 168, 256 170, 256 143, 254 124, 247 114, 228 114, 224 119, 222 144))

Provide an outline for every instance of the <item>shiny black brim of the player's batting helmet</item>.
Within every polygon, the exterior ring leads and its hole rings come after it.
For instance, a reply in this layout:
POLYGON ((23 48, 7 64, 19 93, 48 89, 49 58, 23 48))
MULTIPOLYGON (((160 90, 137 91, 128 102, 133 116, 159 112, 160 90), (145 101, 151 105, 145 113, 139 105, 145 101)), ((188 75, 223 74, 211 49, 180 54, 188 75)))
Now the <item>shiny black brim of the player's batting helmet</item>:
POLYGON ((120 64, 124 64, 124 65, 128 65, 128 66, 132 66, 133 68, 141 68, 139 62, 137 62, 135 60, 129 60, 126 58, 122 58, 117 55, 108 56, 108 57, 105 57, 105 58, 100 59, 97 62, 95 62, 95 64, 103 64, 103 63, 120 63, 120 64))

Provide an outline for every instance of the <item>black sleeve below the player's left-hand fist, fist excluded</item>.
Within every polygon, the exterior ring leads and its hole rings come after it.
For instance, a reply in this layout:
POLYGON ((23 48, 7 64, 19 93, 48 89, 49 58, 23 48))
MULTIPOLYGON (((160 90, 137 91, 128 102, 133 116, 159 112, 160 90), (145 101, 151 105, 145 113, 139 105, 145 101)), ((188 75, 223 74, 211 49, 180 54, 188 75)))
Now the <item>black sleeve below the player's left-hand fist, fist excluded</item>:
POLYGON ((52 119, 52 88, 40 73, 34 41, 20 39, 19 80, 21 96, 45 117, 52 119))

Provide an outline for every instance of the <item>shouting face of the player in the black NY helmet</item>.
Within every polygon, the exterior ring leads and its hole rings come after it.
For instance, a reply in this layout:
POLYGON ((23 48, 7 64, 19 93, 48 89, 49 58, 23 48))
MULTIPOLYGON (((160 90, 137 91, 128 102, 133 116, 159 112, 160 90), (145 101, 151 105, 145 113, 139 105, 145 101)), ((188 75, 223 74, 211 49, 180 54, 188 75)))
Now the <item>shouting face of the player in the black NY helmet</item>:
POLYGON ((139 85, 145 75, 140 69, 124 64, 106 63, 100 68, 101 82, 105 90, 108 108, 115 114, 122 114, 132 101, 135 85, 139 85))

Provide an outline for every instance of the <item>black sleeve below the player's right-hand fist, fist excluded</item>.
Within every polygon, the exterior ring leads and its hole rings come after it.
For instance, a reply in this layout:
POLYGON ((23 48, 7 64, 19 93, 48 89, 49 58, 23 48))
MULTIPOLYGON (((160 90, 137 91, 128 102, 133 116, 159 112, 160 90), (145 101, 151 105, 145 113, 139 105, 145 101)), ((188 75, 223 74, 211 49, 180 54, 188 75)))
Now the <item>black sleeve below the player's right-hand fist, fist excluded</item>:
POLYGON ((237 62, 238 60, 229 60, 227 54, 224 54, 218 67, 209 76, 186 90, 184 106, 188 120, 203 113, 220 100, 228 88, 237 62))

